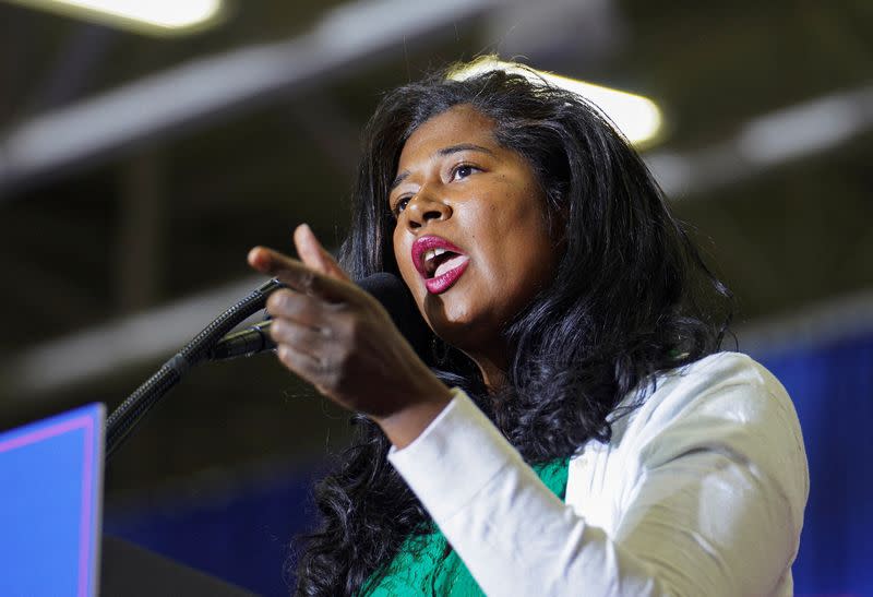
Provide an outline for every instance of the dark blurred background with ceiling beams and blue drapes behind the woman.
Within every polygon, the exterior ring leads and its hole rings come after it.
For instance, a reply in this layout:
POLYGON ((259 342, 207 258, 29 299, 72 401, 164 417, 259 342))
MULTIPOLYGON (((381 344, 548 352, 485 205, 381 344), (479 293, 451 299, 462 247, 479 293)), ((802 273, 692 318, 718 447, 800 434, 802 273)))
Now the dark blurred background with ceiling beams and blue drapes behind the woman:
MULTIPOLYGON (((156 29, 0 1, 0 430, 115 408, 260 285, 252 246, 336 248, 380 95, 499 52, 659 106, 643 156, 803 425, 797 592, 873 594, 873 4, 200 3, 156 29)), ((285 594, 348 435, 270 356, 200 367, 108 465, 106 530, 285 594)))

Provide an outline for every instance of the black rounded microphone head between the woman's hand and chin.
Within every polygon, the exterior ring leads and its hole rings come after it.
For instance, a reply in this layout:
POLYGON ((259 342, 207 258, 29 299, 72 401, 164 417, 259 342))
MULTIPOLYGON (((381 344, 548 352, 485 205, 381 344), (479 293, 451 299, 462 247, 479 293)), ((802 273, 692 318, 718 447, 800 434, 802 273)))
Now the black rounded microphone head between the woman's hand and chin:
POLYGON ((431 331, 418 311, 418 306, 406 284, 394 274, 379 272, 360 279, 358 286, 382 303, 394 321, 394 325, 415 348, 419 358, 424 362, 430 362, 432 359, 428 343, 431 331))

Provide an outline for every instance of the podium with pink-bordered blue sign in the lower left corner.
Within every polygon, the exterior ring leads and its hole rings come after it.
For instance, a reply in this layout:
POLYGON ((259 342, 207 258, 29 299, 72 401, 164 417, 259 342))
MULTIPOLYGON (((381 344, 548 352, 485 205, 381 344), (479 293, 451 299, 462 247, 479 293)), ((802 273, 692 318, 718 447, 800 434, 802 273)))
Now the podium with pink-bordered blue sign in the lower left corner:
POLYGON ((105 418, 92 404, 0 432, 0 595, 253 595, 101 536, 105 418))

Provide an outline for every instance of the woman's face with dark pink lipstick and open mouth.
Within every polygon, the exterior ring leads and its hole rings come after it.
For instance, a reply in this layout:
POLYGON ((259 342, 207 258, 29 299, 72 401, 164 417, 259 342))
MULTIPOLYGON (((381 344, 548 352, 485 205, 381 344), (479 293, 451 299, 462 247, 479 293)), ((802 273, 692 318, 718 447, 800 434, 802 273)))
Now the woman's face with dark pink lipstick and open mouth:
POLYGON ((493 131, 468 105, 426 121, 388 202, 394 255, 428 324, 474 358, 505 361, 500 332, 552 280, 557 251, 533 169, 493 131))

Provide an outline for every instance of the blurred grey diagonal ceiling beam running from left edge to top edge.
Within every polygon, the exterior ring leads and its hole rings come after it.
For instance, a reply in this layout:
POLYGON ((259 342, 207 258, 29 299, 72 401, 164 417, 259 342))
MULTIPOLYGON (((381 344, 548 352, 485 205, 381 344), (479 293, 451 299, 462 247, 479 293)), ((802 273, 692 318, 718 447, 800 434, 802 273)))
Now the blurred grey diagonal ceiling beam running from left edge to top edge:
POLYGON ((35 181, 251 110, 289 89, 340 76, 402 44, 509 0, 359 0, 307 34, 145 76, 23 122, 0 140, 0 198, 35 181))

